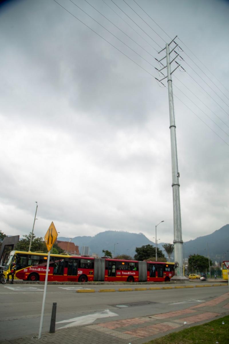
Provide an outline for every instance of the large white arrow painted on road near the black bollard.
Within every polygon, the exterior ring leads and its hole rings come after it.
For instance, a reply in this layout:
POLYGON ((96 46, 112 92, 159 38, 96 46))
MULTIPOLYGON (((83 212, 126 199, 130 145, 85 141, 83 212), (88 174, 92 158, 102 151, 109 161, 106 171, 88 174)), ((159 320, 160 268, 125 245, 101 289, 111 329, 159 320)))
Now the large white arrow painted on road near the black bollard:
POLYGON ((71 322, 71 324, 67 324, 65 326, 58 328, 58 330, 59 329, 66 329, 66 327, 72 327, 72 326, 77 326, 77 325, 88 325, 88 324, 93 323, 96 319, 107 318, 110 316, 117 316, 117 315, 118 314, 113 313, 113 312, 109 311, 108 309, 106 309, 102 312, 78 316, 77 318, 72 318, 72 319, 68 319, 68 320, 58 321, 58 322, 56 322, 56 324, 71 322))

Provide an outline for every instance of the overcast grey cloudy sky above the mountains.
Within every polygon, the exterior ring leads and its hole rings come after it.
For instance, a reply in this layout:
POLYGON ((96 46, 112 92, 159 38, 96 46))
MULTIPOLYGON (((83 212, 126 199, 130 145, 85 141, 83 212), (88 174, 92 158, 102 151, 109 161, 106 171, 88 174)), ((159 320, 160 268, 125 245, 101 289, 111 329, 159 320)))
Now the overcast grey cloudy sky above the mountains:
POLYGON ((157 237, 172 243, 168 90, 154 57, 178 35, 182 237, 214 232, 229 223, 229 2, 87 1, 116 26, 84 0, 86 13, 57 0, 80 21, 54 0, 0 4, 0 229, 31 232, 37 201, 36 236, 53 221, 69 238, 155 241, 164 220, 157 237))

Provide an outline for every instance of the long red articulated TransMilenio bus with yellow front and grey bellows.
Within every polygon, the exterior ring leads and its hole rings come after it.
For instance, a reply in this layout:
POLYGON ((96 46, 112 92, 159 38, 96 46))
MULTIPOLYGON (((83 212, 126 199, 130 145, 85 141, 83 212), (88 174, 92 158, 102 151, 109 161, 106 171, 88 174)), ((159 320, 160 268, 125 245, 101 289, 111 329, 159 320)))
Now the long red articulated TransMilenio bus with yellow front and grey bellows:
MULTIPOLYGON (((16 263, 15 279, 44 281, 46 253, 11 251, 4 275, 16 263)), ((169 282, 174 276, 174 263, 121 260, 112 258, 50 255, 48 281, 169 282)))

